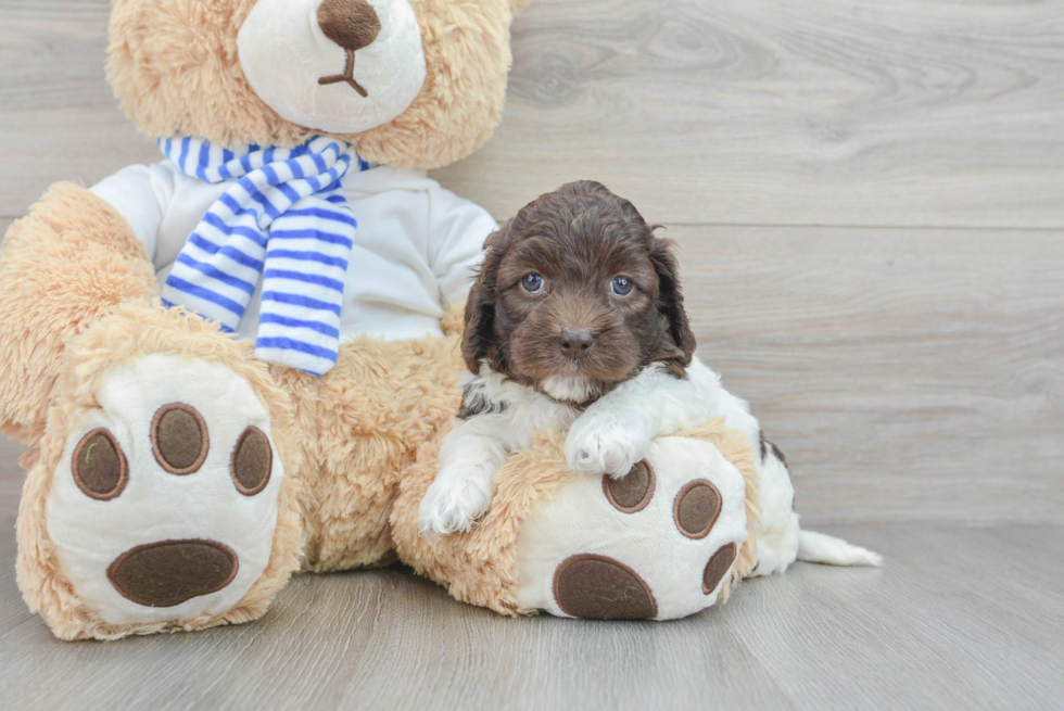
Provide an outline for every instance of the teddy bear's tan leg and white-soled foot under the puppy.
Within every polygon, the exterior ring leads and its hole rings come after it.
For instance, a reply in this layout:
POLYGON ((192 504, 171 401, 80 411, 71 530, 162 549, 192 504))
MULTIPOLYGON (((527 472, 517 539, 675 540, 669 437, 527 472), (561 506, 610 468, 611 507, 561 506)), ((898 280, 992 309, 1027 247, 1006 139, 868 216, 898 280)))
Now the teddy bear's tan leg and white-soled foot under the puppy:
POLYGON ((752 450, 723 420, 650 443, 623 479, 575 473, 565 433, 542 432, 495 475, 472 530, 422 534, 439 439, 405 473, 392 512, 402 560, 457 599, 507 615, 669 620, 724 599, 757 560, 752 450))

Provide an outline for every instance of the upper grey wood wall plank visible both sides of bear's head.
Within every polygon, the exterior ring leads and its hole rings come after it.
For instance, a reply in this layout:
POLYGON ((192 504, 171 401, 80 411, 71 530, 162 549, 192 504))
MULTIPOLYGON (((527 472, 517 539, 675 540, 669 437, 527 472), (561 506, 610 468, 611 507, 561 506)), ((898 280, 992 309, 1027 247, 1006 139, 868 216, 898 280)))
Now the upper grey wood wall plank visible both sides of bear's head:
MULTIPOLYGON (((0 2, 0 216, 157 153, 106 0, 0 2)), ((494 141, 440 172, 508 217, 574 178, 672 223, 1064 226, 1055 0, 536 0, 494 141)))

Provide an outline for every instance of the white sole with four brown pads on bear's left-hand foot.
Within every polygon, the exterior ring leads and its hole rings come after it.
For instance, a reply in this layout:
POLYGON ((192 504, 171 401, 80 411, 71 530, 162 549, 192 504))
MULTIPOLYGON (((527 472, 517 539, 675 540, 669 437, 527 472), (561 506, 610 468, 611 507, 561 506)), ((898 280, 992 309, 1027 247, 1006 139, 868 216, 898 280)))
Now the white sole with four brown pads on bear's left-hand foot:
POLYGON ((55 471, 48 534, 112 624, 235 607, 269 561, 281 473, 267 411, 219 364, 150 355, 115 370, 55 471))

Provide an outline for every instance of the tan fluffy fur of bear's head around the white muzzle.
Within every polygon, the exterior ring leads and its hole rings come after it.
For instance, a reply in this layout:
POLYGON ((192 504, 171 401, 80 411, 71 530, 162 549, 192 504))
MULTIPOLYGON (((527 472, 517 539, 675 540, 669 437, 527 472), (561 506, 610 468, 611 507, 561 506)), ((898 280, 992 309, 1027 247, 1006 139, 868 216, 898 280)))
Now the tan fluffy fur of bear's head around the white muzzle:
MULTIPOLYGON (((255 0, 114 0, 107 75, 148 136, 293 147, 320 135, 277 115, 248 84, 237 35, 255 0)), ((428 77, 389 124, 338 136, 368 161, 438 168, 487 142, 510 68, 507 0, 413 0, 428 77)))

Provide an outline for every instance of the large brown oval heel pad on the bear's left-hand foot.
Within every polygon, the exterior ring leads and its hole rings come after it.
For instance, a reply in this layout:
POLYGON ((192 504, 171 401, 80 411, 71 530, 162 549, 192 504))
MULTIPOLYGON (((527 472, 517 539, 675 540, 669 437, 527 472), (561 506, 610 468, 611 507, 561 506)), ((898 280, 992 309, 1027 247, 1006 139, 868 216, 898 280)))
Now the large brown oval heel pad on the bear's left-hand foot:
POLYGON ((128 600, 145 607, 174 607, 223 589, 240 564, 228 546, 214 541, 164 541, 122 554, 107 580, 128 600))

